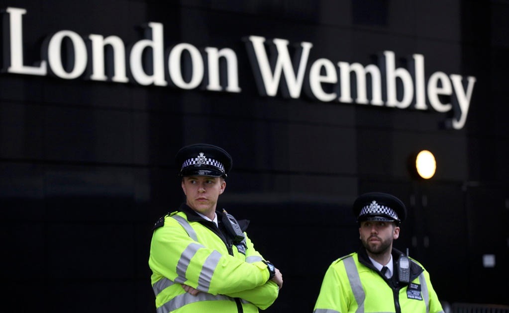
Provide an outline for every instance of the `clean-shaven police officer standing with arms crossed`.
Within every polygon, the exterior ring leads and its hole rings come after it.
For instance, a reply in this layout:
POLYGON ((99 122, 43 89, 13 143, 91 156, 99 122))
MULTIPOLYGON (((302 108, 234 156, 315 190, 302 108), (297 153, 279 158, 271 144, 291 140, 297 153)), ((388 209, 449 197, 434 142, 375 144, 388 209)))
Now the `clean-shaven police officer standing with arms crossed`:
POLYGON ((157 313, 258 312, 277 298, 282 275, 254 249, 249 221, 216 211, 232 158, 209 144, 176 155, 186 203, 154 226, 149 266, 157 313))

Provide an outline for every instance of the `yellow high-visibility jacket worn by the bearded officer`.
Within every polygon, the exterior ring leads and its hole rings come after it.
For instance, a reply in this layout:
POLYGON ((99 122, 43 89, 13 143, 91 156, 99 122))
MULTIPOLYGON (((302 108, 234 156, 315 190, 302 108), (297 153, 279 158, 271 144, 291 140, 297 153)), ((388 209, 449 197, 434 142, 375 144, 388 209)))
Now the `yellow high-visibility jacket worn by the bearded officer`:
MULTIPOLYGON (((392 259, 402 253, 392 249, 392 259)), ((378 271, 364 248, 337 259, 328 268, 315 304, 315 313, 347 312, 442 312, 429 273, 411 259, 410 284, 397 281, 397 266, 387 279, 378 271)))

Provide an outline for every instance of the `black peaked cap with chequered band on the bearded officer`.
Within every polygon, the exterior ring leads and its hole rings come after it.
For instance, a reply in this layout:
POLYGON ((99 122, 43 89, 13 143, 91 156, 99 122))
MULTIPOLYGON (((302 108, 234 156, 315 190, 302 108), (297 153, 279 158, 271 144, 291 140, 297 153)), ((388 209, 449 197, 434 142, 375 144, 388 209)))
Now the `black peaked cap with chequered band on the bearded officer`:
POLYGON ((357 222, 384 221, 400 225, 407 217, 403 202, 389 194, 367 193, 360 195, 353 204, 353 214, 357 222))

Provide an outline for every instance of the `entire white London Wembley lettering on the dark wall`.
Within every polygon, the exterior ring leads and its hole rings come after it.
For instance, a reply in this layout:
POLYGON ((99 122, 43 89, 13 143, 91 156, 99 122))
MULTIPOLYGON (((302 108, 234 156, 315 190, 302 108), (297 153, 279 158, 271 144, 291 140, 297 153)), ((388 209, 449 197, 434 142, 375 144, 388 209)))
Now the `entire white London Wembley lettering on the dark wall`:
MULTIPOLYGON (((144 39, 130 49, 117 36, 91 34, 84 38, 72 30, 60 30, 44 41, 41 60, 26 66, 24 14, 25 9, 5 10, 4 72, 241 92, 235 51, 199 49, 190 43, 179 43, 165 51, 164 27, 156 22, 146 24, 144 39)), ((380 53, 377 65, 363 66, 326 58, 310 60, 313 44, 309 42, 298 43, 292 57, 286 39, 249 36, 243 40, 261 96, 276 97, 280 92, 282 97, 298 99, 304 90, 307 97, 322 102, 416 110, 431 107, 437 112, 453 111, 453 117, 445 121, 448 128, 459 130, 465 125, 475 77, 465 79, 438 71, 426 82, 425 58, 421 54, 408 57, 406 68, 398 67, 393 51, 380 53)))

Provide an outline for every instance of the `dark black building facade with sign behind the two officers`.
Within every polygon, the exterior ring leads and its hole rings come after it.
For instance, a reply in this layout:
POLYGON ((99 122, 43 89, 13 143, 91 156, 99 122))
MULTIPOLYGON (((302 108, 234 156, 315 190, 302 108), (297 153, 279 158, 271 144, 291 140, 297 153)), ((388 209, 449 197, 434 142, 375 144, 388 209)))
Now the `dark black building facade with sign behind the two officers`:
POLYGON ((313 310, 371 191, 406 204, 395 247, 442 301, 509 304, 507 2, 0 9, 0 312, 154 311, 151 229, 197 142, 232 155, 219 205, 284 274, 266 311, 313 310))

